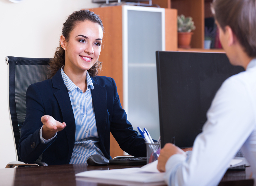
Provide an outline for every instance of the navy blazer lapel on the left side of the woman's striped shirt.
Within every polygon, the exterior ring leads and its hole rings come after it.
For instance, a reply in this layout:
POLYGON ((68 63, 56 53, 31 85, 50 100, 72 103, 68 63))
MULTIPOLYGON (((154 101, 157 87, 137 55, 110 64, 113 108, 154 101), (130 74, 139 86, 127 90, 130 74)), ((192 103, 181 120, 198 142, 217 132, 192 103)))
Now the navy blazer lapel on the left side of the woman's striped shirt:
POLYGON ((55 88, 59 89, 54 93, 54 95, 59 103, 61 114, 63 117, 63 122, 67 124, 64 130, 68 138, 68 146, 69 146, 69 153, 68 153, 68 159, 67 159, 67 164, 68 164, 71 159, 71 155, 72 155, 74 143, 75 143, 76 122, 75 122, 68 90, 66 85, 63 82, 60 70, 54 75, 54 77, 52 77, 52 84, 55 88))

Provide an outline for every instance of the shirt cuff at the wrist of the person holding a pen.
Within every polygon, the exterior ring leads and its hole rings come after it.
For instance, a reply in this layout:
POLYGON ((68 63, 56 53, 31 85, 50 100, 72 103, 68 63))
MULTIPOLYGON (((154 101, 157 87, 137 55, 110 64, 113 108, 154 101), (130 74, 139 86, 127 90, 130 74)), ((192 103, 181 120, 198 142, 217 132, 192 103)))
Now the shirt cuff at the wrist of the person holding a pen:
POLYGON ((173 171, 176 171, 179 165, 183 164, 187 159, 186 156, 182 154, 174 154, 169 159, 167 160, 165 164, 165 175, 164 175, 164 180, 165 183, 168 185, 171 185, 171 176, 173 171))

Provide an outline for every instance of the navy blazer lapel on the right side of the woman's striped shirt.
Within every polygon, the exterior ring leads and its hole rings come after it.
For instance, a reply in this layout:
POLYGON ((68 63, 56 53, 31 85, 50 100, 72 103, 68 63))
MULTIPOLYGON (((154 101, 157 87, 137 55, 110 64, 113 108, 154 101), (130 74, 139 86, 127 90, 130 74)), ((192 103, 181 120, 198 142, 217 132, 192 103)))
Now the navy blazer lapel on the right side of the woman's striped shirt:
POLYGON ((95 113, 95 121, 96 121, 98 136, 99 136, 100 143, 102 145, 101 147, 103 148, 106 122, 107 122, 107 93, 106 93, 106 87, 103 87, 95 83, 95 78, 92 78, 92 81, 94 86, 94 89, 91 90, 92 103, 93 103, 93 108, 95 113))

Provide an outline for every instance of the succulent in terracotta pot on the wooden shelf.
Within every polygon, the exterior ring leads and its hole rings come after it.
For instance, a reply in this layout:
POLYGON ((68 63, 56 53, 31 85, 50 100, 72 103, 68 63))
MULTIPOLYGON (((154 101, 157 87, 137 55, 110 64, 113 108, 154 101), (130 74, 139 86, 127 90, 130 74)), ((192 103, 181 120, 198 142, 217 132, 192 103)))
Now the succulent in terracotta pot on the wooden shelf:
POLYGON ((191 48, 190 42, 196 27, 192 17, 178 16, 178 48, 191 48))

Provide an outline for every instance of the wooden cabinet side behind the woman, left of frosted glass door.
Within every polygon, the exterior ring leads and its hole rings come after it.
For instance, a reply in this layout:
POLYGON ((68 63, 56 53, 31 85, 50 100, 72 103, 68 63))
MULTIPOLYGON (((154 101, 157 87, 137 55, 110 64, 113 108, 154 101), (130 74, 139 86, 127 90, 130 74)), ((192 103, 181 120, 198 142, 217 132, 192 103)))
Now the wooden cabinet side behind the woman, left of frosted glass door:
MULTIPOLYGON (((123 104, 122 6, 109 6, 90 10, 100 16, 104 26, 99 57, 103 64, 99 75, 112 77, 115 80, 120 102, 123 104)), ((122 155, 123 150, 110 133, 110 156, 113 158, 122 155)))

